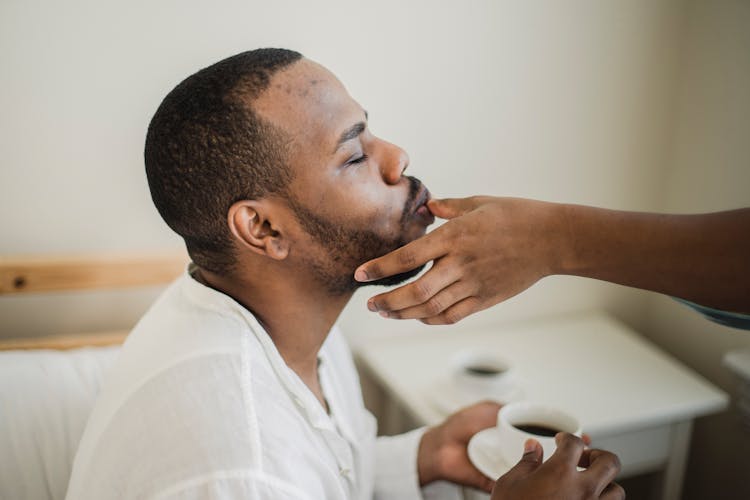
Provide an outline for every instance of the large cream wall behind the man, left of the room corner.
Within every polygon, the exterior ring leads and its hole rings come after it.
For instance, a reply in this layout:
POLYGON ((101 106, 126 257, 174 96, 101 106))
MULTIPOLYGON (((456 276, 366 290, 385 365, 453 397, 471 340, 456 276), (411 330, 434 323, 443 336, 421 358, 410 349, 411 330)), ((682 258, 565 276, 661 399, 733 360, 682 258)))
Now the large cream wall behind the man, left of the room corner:
MULTIPOLYGON (((681 12, 678 0, 5 0, 0 254, 179 245, 148 195, 148 121, 182 78, 260 46, 330 67, 436 195, 652 209, 681 12)), ((349 330, 418 327, 367 314, 369 292, 345 314, 349 330)), ((127 326, 152 298, 126 295, 124 309, 85 296, 4 299, 0 335, 48 333, 58 311, 66 330, 127 326), (39 307, 49 317, 29 315, 39 307)), ((459 327, 595 307, 637 323, 642 303, 618 287, 549 279, 459 327)))

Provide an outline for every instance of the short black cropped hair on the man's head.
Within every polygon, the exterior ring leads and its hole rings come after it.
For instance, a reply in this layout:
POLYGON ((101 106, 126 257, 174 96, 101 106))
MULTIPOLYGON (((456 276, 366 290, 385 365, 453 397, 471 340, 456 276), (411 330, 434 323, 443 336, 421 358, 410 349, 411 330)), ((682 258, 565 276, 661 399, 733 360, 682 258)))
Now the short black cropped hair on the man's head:
POLYGON ((177 85, 151 119, 144 151, 151 198, 204 269, 234 269, 229 207, 283 192, 292 179, 289 138, 252 102, 277 71, 301 58, 286 49, 228 57, 177 85))

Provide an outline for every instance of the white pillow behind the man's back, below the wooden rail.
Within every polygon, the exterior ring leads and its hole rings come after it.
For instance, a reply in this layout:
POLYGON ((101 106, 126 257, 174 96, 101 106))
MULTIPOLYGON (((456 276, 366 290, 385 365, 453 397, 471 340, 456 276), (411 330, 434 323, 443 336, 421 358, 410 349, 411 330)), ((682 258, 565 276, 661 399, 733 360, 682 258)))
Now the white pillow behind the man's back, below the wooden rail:
POLYGON ((62 500, 120 346, 0 352, 0 499, 62 500))

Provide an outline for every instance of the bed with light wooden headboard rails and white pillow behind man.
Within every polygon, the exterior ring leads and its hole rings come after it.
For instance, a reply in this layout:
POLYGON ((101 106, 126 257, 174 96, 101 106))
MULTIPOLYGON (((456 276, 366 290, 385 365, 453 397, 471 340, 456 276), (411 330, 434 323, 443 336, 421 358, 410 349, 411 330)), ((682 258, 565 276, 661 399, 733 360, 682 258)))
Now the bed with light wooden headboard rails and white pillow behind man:
MULTIPOLYGON (((0 257, 0 300, 163 286, 186 264, 179 252, 0 257)), ((89 412, 127 333, 0 338, 0 499, 65 497, 89 412)))

